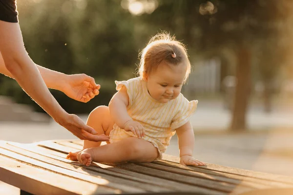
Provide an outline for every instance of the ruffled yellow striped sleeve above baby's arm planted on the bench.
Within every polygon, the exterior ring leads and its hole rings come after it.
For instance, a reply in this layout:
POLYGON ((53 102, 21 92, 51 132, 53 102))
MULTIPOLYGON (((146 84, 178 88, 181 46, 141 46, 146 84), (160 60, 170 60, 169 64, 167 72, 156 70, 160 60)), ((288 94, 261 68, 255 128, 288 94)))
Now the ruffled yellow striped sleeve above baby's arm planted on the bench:
POLYGON ((178 112, 172 119, 171 130, 175 131, 190 120, 190 117, 194 114, 198 100, 188 101, 186 98, 182 98, 182 102, 178 102, 180 106, 178 112))

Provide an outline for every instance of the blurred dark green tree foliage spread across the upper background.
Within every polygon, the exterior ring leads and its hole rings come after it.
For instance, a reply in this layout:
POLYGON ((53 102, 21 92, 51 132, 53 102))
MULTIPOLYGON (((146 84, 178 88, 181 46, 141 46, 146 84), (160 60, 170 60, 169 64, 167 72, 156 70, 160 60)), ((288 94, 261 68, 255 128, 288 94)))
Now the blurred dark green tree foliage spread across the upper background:
MULTIPOLYGON (((272 80, 279 64, 288 61, 291 1, 153 1, 156 9, 139 16, 124 9, 121 0, 18 1, 24 43, 35 63, 66 74, 88 74, 102 86, 100 95, 86 104, 52 90, 65 110, 82 113, 106 105, 115 93, 114 80, 134 76, 139 51, 161 30, 187 44, 191 62, 218 56, 231 67, 244 44, 256 80, 272 80)), ((10 78, 0 76, 0 95, 42 111, 10 78)))

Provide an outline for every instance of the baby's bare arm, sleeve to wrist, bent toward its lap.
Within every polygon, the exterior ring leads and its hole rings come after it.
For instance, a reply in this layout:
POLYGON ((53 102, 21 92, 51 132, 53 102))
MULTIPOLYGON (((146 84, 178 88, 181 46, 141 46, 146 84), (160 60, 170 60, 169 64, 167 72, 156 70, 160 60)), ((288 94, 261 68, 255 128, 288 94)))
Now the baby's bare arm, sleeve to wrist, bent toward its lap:
POLYGON ((124 129, 124 124, 132 120, 127 113, 126 106, 119 98, 112 98, 109 103, 109 111, 112 119, 118 127, 124 129))

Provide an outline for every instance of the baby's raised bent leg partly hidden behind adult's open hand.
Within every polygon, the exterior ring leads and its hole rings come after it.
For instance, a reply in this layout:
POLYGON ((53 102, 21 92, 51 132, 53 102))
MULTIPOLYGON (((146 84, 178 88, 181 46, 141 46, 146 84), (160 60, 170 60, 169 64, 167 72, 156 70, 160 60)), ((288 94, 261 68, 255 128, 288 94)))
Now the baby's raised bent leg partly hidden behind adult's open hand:
MULTIPOLYGON (((88 116, 86 124, 92 128, 94 128, 97 132, 97 135, 105 134, 106 136, 109 136, 110 131, 112 130, 112 127, 114 125, 114 121, 110 117, 109 108, 107 106, 98 106, 95 108, 88 116)), ((89 141, 84 140, 84 149, 92 148, 92 147, 98 147, 101 145, 101 141, 95 142, 95 141, 89 141)), ((78 152, 69 152, 66 158, 69 158, 70 160, 77 160, 77 154, 78 152)))

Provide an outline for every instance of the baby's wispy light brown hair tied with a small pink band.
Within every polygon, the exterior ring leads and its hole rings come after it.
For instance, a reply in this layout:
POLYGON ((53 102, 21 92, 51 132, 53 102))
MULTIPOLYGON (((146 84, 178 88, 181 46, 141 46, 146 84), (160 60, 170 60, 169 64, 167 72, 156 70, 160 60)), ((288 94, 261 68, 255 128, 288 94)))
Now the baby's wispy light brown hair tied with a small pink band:
POLYGON ((187 72, 184 83, 188 79, 191 65, 188 59, 186 46, 177 41, 174 36, 167 32, 162 32, 150 39, 146 47, 140 53, 141 60, 138 74, 144 78, 155 71, 162 61, 168 65, 186 64, 187 72))

